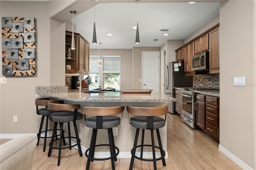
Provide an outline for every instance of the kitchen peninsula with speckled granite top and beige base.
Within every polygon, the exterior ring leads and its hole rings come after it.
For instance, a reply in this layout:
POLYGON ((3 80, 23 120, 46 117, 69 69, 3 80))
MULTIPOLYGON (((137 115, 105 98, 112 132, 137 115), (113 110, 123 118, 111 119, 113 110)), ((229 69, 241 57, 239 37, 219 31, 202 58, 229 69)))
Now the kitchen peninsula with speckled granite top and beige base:
MULTIPOLYGON (((84 91, 84 90, 82 90, 84 91)), ((81 108, 78 110, 82 112, 82 106, 142 106, 142 107, 160 107, 166 106, 168 102, 175 101, 165 94, 154 93, 151 94, 122 94, 122 92, 100 92, 100 93, 84 93, 79 90, 68 90, 67 86, 38 86, 36 87, 36 95, 49 96, 58 100, 64 100, 67 104, 80 104, 81 108)), ((136 129, 129 124, 129 117, 132 115, 126 111, 123 112, 122 122, 118 126, 118 135, 114 136, 115 144, 120 150, 119 158, 130 158, 130 150, 132 149, 136 129)), ((86 116, 87 117, 87 116, 86 116)), ((81 139, 82 151, 84 152, 90 146, 91 129, 84 126, 84 120, 77 121, 79 125, 82 123, 82 130, 79 130, 79 137, 81 139)), ((163 149, 167 154, 167 125, 160 128, 163 149)), ((65 127, 66 128, 66 127, 65 127)), ((108 143, 108 137, 105 130, 98 132, 97 141, 100 143, 108 143)), ((140 139, 139 139, 140 141, 140 139)), ((155 141, 157 143, 157 140, 155 141)), ((144 144, 150 144, 150 133, 145 131, 144 144)), ((100 148, 102 149, 102 148, 100 148)), ((104 149, 104 148, 103 148, 104 149)), ((107 149, 107 148, 106 148, 107 149)), ((145 156, 152 157, 150 149, 146 150, 145 156), (147 152, 149 151, 149 152, 147 152)), ((96 150, 99 156, 105 154, 105 150, 96 150), (100 152, 99 152, 100 151, 100 152), (101 155, 100 155, 101 154, 101 155)), ((158 150, 156 150, 158 151, 158 150)), ((96 154, 97 156, 97 154, 96 154)))

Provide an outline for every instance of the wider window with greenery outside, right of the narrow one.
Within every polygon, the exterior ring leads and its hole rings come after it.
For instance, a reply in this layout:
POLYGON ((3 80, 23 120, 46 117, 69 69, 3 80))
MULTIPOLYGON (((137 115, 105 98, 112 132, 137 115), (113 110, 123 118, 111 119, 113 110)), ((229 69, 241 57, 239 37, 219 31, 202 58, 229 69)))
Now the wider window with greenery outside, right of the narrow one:
POLYGON ((104 88, 120 90, 121 56, 103 56, 104 88))

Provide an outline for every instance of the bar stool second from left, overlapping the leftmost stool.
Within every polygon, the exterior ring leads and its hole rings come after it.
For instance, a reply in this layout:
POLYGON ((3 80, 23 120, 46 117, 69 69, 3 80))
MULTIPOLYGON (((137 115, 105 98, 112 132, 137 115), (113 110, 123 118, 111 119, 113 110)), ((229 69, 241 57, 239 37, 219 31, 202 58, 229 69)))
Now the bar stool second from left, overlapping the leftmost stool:
MULTIPOLYGON (((60 154, 62 149, 67 149, 69 148, 71 150, 72 147, 78 146, 78 151, 79 155, 82 156, 82 150, 80 146, 80 139, 78 136, 78 130, 76 126, 76 120, 81 120, 83 118, 83 115, 79 113, 77 110, 80 108, 79 104, 58 104, 56 101, 49 101, 48 102, 48 110, 51 110, 50 114, 50 120, 54 122, 54 130, 52 134, 52 139, 51 142, 49 143, 49 152, 48 152, 48 157, 51 156, 52 149, 58 149, 59 154, 58 154, 58 166, 60 165, 60 154), (74 111, 69 111, 73 110, 74 111), (58 111, 58 112, 54 112, 58 111), (63 135, 63 123, 68 122, 68 137, 65 137, 63 135), (73 122, 74 124, 74 130, 76 137, 70 136, 70 122, 73 122), (60 138, 54 140, 54 136, 57 133, 57 124, 60 124, 60 138), (69 146, 68 147, 62 147, 62 140, 63 143, 65 141, 65 138, 68 138, 69 140, 69 146), (71 145, 71 138, 76 138, 76 144, 71 145), (54 142, 59 140, 59 147, 54 147, 54 142)), ((65 145, 65 143, 64 143, 65 145)))

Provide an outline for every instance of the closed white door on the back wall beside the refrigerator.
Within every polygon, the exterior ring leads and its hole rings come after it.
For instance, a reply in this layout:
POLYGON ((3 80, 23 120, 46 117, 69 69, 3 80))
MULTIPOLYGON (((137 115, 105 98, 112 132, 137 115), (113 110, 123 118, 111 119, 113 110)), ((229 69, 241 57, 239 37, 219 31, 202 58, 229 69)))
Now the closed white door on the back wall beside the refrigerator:
POLYGON ((142 65, 143 89, 159 92, 159 52, 142 52, 142 65))

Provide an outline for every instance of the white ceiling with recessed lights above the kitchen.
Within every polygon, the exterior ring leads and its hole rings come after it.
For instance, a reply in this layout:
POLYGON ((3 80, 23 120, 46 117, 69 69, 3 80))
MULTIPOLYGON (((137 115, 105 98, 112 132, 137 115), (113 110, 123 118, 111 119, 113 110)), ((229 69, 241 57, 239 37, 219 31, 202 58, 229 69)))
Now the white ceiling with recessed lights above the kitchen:
MULTIPOLYGON (((160 47, 166 40, 184 40, 220 12, 219 2, 100 3, 95 6, 96 36, 92 44, 94 7, 74 17, 76 32, 91 44, 90 49, 160 47), (137 10, 138 5, 138 10, 137 10), (138 21, 140 44, 135 44, 138 21), (161 32, 160 29, 170 29, 161 32), (112 36, 107 34, 111 33, 112 36), (164 36, 163 34, 169 34, 164 36), (157 41, 153 41, 158 39, 157 41), (99 42, 102 42, 100 45, 99 42)), ((94 2, 91 2, 94 5, 94 2)), ((72 14, 70 14, 72 16, 72 14)), ((72 22, 72 18, 70 19, 72 22)))

